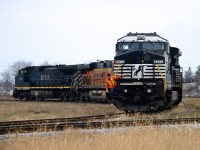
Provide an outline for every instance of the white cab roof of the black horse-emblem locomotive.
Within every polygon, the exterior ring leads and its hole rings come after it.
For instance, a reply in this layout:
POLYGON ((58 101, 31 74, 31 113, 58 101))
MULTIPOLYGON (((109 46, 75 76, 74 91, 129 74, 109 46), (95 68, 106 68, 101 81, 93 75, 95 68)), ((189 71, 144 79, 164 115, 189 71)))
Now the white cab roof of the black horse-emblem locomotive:
POLYGON ((159 36, 156 32, 154 33, 129 32, 127 35, 117 40, 117 42, 144 42, 144 41, 168 43, 167 39, 164 39, 163 37, 159 36))

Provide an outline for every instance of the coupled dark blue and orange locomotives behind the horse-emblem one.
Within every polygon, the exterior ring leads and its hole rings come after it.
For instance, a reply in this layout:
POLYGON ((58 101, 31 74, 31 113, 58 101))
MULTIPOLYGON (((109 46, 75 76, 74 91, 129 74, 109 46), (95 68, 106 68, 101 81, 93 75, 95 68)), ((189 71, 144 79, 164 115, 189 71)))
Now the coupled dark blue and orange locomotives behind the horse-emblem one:
POLYGON ((106 100, 105 80, 113 61, 90 64, 29 66, 15 77, 13 96, 19 99, 106 100))

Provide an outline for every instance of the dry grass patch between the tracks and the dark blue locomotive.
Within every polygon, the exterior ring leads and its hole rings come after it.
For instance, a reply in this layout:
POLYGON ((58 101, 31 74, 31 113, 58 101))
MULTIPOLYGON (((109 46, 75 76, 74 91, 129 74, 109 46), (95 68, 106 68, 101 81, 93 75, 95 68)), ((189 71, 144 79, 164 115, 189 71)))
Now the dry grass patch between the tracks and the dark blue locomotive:
POLYGON ((84 116, 118 112, 112 104, 0 101, 0 121, 84 116))

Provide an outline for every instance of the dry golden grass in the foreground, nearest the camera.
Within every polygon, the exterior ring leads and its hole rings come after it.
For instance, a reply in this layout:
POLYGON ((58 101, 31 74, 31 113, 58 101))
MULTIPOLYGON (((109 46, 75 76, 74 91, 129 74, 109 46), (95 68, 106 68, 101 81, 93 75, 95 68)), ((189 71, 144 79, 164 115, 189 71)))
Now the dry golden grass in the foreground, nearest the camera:
POLYGON ((64 135, 50 137, 16 137, 1 142, 2 150, 198 150, 199 128, 137 127, 130 131, 107 134, 66 130, 64 135))

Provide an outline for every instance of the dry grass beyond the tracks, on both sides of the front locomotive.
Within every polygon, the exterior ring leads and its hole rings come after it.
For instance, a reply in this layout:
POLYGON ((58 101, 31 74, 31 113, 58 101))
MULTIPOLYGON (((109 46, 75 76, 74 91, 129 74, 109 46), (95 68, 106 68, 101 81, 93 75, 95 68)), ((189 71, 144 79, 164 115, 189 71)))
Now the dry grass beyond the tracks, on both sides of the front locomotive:
MULTIPOLYGON (((114 112, 120 111, 112 104, 0 100, 0 121, 85 116, 114 112)), ((200 98, 184 98, 182 103, 170 110, 149 115, 133 115, 133 117, 135 116, 198 117, 200 116, 200 98)))

